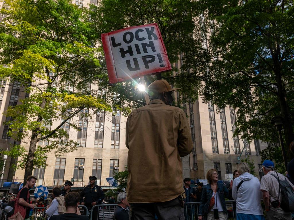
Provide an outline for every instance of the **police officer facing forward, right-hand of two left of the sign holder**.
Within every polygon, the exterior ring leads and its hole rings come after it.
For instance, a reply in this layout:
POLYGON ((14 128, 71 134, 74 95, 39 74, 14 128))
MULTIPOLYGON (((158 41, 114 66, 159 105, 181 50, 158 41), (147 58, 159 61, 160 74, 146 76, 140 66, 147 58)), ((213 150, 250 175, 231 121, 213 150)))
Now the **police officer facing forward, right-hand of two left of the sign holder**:
MULTIPOLYGON (((100 186, 95 185, 95 176, 89 176, 89 185, 86 186, 80 196, 81 196, 81 205, 85 205, 90 211, 93 206, 100 205, 104 199, 104 192, 100 186)), ((93 220, 98 219, 98 207, 93 209, 93 220)))

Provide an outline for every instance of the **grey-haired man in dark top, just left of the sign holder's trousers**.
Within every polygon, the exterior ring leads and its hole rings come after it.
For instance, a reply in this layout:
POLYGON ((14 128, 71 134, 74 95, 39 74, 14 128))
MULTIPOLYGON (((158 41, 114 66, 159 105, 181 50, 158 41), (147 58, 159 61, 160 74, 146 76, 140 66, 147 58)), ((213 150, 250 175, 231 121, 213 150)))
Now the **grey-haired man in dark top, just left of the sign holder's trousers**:
POLYGON ((128 207, 130 204, 127 200, 127 194, 125 192, 121 192, 117 196, 117 207, 114 212, 114 218, 116 220, 129 220, 129 210, 128 207))

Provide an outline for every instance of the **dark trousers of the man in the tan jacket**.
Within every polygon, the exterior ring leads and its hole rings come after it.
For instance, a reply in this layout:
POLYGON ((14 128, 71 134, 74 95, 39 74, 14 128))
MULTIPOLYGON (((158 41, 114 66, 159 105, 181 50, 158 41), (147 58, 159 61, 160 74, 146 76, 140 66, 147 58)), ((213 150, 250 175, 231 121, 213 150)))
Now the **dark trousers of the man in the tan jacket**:
POLYGON ((184 220, 180 197, 167 202, 131 203, 131 220, 184 220))

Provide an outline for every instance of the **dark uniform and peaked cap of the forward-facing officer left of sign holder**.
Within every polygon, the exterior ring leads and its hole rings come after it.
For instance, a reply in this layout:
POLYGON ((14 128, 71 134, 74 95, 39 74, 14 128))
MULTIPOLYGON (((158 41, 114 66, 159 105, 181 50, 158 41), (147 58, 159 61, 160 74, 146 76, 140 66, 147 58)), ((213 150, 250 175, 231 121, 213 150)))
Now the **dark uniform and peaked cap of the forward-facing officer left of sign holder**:
MULTIPOLYGON (((97 178, 95 176, 90 176, 89 180, 97 180, 97 178)), ((84 202, 88 210, 92 209, 92 202, 96 202, 97 205, 100 205, 105 197, 101 187, 97 185, 94 185, 93 188, 91 188, 91 185, 86 186, 82 190, 80 196, 80 202, 84 202)))

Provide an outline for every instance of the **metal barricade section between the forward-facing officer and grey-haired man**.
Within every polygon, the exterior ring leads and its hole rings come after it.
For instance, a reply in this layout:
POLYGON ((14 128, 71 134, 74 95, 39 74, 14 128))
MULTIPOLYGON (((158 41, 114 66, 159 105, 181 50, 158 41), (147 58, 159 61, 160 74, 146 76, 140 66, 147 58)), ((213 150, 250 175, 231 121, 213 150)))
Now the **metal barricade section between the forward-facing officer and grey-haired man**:
POLYGON ((118 204, 101 204, 93 206, 90 213, 90 220, 113 220, 114 211, 117 205, 118 204), (98 209, 96 209, 96 207, 98 209), (97 219, 93 219, 95 211, 97 211, 97 219))

